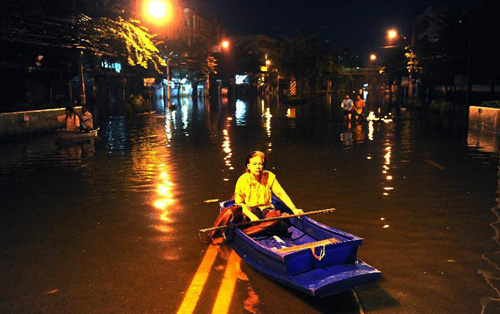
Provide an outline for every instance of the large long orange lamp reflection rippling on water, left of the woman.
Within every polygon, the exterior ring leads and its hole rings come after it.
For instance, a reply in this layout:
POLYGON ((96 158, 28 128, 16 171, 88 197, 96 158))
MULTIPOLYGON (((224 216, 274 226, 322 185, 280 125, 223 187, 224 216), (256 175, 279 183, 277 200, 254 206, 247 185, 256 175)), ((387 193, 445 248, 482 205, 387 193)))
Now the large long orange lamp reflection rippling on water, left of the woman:
MULTIPOLYGON (((141 128, 132 133, 131 171, 126 172, 124 179, 127 191, 145 195, 150 211, 147 216, 152 219, 150 227, 159 234, 153 240, 167 244, 176 240, 176 216, 183 211, 178 203, 178 171, 174 167, 171 143, 176 139, 174 122, 184 117, 172 111, 166 113, 164 122, 162 119, 147 118, 141 121, 141 128), (159 123, 153 123, 156 121, 159 123)), ((164 248, 162 257, 167 260, 180 258, 177 248, 170 245, 164 248)))

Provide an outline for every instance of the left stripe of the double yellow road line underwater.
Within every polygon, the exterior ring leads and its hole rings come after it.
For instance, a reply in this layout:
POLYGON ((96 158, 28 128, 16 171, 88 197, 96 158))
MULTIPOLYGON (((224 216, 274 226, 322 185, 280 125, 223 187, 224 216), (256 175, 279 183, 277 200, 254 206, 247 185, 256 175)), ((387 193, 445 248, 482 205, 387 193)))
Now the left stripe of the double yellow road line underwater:
POLYGON ((218 252, 219 249, 216 245, 210 245, 208 247, 177 314, 193 313, 218 252))

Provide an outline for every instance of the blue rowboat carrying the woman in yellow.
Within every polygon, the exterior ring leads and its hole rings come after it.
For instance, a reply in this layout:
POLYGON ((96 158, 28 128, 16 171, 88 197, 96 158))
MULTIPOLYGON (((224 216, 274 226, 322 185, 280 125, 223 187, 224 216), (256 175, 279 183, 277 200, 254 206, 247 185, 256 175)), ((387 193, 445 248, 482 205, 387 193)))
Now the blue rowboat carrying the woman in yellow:
MULTIPOLYGON (((276 209, 292 213, 273 198, 276 209)), ((221 209, 234 200, 221 202, 221 209)), ((250 237, 227 229, 224 237, 238 255, 261 274, 306 294, 326 297, 374 283, 381 272, 356 255, 363 239, 308 217, 290 218, 288 235, 250 237)))

